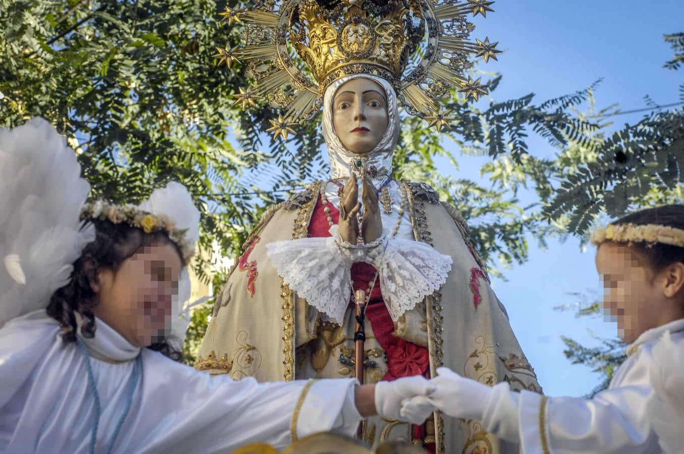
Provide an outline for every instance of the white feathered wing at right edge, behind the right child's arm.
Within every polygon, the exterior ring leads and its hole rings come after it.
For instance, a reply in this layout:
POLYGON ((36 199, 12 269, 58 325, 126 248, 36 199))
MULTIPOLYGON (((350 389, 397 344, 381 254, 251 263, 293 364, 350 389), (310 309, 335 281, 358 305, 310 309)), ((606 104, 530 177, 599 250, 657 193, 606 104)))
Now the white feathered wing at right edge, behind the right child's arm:
POLYGON ((670 332, 666 332, 652 353, 650 422, 661 449, 667 454, 681 453, 684 446, 684 343, 674 343, 670 332))

